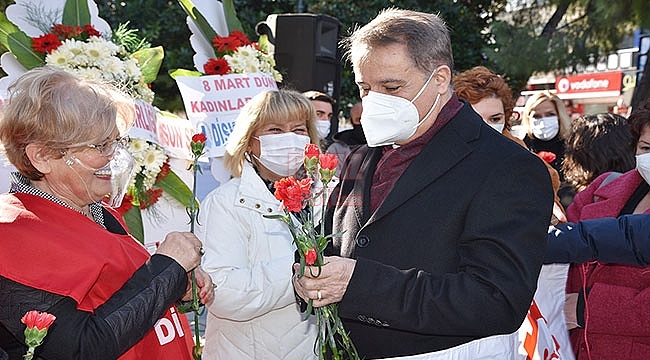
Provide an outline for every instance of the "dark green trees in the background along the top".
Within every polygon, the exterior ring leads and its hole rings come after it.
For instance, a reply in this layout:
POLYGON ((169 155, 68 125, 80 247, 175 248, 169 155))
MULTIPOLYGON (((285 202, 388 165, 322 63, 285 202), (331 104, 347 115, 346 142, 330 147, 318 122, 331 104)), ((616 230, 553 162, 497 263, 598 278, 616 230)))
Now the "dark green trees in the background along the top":
MULTIPOLYGON (((214 0, 217 1, 217 0, 214 0)), ((4 9, 11 0, 0 0, 4 9)), ((182 111, 171 69, 192 69, 194 51, 185 13, 177 0, 96 1, 100 16, 113 29, 129 21, 152 46, 165 49, 160 75, 152 84, 155 105, 182 111)), ((395 6, 439 13, 451 31, 455 70, 485 65, 504 74, 513 91, 523 89, 535 72, 578 71, 616 49, 625 35, 650 27, 647 0, 542 0, 525 10, 505 12, 507 0, 320 0, 303 1, 303 11, 326 14, 343 24, 342 35, 395 6)), ((234 0, 245 32, 256 39, 255 25, 270 14, 298 12, 297 0, 234 0)), ((4 49, 0 49, 3 52, 4 49)), ((650 71, 644 81, 650 83, 650 71)), ((350 65, 343 65, 342 108, 358 100, 350 65)), ((646 84, 647 89, 647 84, 646 84)), ((647 90, 646 90, 647 91, 647 90)), ((636 96, 635 96, 636 97, 636 96)), ((642 94, 641 98, 646 95, 642 94)), ((347 114, 346 114, 347 115, 347 114)))

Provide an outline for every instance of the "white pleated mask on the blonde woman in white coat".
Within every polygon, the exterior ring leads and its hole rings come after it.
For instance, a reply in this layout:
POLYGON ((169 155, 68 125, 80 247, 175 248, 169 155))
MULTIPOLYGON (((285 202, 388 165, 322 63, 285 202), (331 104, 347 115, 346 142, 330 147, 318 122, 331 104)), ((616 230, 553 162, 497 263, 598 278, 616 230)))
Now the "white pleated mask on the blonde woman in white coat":
POLYGON ((309 136, 293 132, 261 135, 260 157, 255 157, 260 164, 280 176, 295 175, 302 166, 305 145, 309 136))

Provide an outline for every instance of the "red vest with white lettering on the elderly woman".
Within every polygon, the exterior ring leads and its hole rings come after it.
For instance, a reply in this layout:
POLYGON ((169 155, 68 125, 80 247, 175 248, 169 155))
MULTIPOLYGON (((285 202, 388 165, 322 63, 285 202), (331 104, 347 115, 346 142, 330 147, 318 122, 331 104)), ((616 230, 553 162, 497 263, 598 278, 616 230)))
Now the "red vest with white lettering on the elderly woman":
MULTIPOLYGON (((39 196, 0 195, 0 275, 69 296, 93 312, 149 258, 130 235, 39 196)), ((54 314, 56 315, 56 314, 54 314)), ((187 318, 172 306, 120 359, 192 359, 187 318)))

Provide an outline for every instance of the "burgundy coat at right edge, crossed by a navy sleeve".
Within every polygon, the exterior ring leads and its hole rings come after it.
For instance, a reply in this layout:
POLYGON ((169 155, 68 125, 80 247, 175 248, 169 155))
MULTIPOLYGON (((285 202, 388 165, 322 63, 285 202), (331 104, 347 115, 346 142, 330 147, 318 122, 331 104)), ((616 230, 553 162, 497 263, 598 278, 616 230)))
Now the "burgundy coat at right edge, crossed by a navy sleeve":
MULTIPOLYGON (((576 195, 567 209, 569 221, 618 216, 643 182, 639 173, 631 170, 601 187, 608 174, 599 176, 576 195)), ((650 213, 650 209, 645 213, 650 213)), ((574 264, 569 271, 567 292, 576 293, 583 285, 590 289, 585 327, 571 331, 577 359, 648 359, 650 266, 574 264)))

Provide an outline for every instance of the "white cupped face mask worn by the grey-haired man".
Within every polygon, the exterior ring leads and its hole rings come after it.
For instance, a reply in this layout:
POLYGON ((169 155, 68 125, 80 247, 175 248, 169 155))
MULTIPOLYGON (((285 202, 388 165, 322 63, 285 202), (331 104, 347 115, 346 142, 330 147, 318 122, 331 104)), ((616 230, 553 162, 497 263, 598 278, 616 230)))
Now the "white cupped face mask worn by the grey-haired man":
POLYGON ((427 81, 411 101, 399 96, 374 91, 369 91, 368 95, 361 99, 363 105, 361 125, 368 146, 394 145, 396 142, 404 141, 415 134, 418 127, 438 106, 440 100, 440 94, 438 94, 429 112, 420 120, 420 114, 413 102, 422 95, 435 73, 434 71, 429 75, 427 81))

